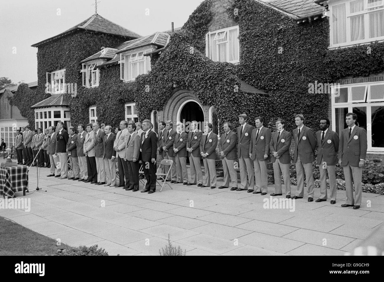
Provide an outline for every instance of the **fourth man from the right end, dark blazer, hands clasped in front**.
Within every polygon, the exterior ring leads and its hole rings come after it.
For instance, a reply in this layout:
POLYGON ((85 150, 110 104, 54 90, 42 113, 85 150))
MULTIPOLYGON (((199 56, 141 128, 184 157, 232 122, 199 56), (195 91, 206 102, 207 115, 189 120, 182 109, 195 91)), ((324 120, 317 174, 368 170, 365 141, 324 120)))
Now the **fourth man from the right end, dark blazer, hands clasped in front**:
MULTIPOLYGON (((271 196, 281 196, 283 192, 281 190, 281 175, 285 184, 285 198, 291 198, 291 177, 290 177, 290 146, 292 142, 292 134, 284 129, 285 120, 276 120, 276 131, 272 133, 271 141, 269 144, 273 163, 273 176, 275 178, 275 193, 271 196)), ((253 192, 257 194, 259 192, 253 192)))

